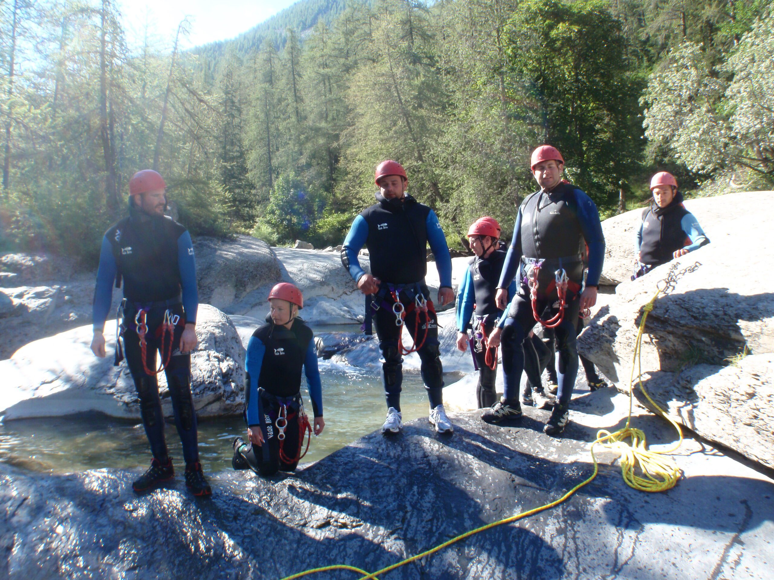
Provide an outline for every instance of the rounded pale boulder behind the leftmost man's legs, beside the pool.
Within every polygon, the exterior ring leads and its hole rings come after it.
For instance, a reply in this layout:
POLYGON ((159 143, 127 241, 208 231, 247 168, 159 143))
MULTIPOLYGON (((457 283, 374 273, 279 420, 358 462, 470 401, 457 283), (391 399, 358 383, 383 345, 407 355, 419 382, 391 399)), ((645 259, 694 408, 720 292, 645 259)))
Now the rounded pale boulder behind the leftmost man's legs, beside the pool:
MULTIPOLYGON (((113 366, 115 321, 105 325, 108 357, 91 353, 91 326, 36 340, 0 361, 4 377, 0 415, 18 418, 101 411, 139 419, 139 404, 126 363, 113 366)), ((197 349, 191 357, 191 390, 200 417, 236 415, 244 405, 245 350, 228 316, 200 305, 197 349)), ((166 377, 159 374, 165 415, 172 415, 166 377)))

